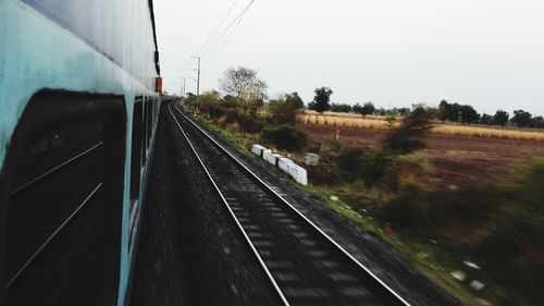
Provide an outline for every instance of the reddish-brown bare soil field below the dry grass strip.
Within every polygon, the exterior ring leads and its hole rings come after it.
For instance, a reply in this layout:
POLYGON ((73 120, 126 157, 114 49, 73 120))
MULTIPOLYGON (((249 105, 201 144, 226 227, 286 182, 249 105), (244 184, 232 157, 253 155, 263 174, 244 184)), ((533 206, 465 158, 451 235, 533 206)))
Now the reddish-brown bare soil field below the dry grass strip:
MULTIPOLYGON (((311 140, 321 142, 325 137, 339 136, 349 146, 374 148, 386 132, 305 125, 311 140)), ((467 185, 471 182, 495 179, 503 173, 504 166, 526 156, 544 157, 544 142, 515 140, 503 138, 467 137, 443 134, 429 134, 424 140, 428 149, 423 151, 432 159, 436 180, 453 185, 467 185)))

